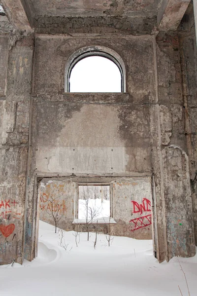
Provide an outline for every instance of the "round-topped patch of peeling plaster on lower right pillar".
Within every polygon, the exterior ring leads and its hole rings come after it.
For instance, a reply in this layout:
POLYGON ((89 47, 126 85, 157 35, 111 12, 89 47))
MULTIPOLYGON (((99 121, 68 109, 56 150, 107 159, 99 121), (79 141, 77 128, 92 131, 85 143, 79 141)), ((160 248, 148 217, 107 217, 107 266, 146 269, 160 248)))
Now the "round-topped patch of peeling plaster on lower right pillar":
POLYGON ((180 148, 166 147, 164 197, 168 258, 196 254, 188 156, 180 148))

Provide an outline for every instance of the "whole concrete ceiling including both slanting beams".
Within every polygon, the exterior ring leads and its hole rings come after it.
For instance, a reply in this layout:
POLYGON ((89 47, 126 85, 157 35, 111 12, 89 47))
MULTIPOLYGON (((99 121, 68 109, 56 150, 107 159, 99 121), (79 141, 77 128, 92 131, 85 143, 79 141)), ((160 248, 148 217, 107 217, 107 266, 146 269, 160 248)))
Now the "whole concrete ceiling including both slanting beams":
MULTIPOLYGON (((40 34, 177 30, 191 0, 0 0, 13 28, 40 34)), ((0 32, 7 22, 0 15, 0 32)))

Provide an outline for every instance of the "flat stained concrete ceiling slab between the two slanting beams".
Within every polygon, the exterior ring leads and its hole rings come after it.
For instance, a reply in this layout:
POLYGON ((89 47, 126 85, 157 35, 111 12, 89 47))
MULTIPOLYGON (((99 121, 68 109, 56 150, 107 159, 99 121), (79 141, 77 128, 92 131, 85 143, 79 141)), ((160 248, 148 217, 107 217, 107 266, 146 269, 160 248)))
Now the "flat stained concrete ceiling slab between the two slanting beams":
POLYGON ((162 0, 27 0, 33 15, 154 17, 162 0))

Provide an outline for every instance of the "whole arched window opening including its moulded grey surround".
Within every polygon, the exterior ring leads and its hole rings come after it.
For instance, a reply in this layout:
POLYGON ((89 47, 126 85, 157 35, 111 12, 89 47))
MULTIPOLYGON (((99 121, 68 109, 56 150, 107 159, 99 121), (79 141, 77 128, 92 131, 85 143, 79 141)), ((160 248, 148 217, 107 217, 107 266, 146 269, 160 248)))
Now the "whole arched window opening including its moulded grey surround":
POLYGON ((87 46, 74 52, 65 67, 65 92, 126 92, 122 58, 104 46, 87 46))

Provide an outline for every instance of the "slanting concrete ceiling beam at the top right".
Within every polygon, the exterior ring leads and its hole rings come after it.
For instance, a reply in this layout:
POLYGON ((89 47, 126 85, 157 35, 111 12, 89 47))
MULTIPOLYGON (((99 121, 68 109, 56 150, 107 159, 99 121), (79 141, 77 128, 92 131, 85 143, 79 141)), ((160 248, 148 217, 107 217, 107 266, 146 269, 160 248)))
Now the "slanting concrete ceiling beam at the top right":
POLYGON ((157 17, 159 30, 176 30, 189 4, 190 0, 163 0, 157 17))

